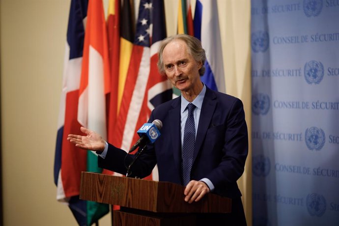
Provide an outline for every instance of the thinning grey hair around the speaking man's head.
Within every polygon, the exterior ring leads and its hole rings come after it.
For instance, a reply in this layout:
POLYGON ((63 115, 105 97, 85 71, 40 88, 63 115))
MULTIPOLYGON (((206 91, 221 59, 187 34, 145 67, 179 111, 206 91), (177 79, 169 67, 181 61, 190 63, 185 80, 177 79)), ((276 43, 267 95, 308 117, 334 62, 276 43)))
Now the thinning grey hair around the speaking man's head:
POLYGON ((163 52, 167 44, 169 44, 171 41, 179 39, 186 43, 188 47, 188 53, 197 61, 202 62, 202 66, 199 69, 199 75, 202 76, 205 73, 205 61, 206 61, 206 55, 205 50, 202 49, 201 42, 198 38, 193 37, 188 34, 177 34, 173 36, 169 36, 165 38, 158 49, 158 70, 160 74, 165 75, 165 68, 164 68, 164 62, 163 62, 163 52))

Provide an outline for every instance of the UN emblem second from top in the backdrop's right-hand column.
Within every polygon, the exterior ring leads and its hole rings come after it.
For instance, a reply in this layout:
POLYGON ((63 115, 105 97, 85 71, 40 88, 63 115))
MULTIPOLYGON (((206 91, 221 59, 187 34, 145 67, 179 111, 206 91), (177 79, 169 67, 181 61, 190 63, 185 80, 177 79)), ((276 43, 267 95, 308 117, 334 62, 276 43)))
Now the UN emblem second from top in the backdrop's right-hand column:
POLYGON ((305 64, 304 75, 308 84, 319 84, 324 77, 324 66, 320 61, 311 60, 305 64))

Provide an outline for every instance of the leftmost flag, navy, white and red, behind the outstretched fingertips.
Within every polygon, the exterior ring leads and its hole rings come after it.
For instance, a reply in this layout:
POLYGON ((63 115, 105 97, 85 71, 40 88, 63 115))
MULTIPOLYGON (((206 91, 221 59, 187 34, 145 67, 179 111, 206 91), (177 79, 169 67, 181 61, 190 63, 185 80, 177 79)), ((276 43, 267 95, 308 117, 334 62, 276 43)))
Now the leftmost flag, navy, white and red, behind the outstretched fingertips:
POLYGON ((69 205, 79 225, 87 225, 86 202, 79 200, 80 173, 86 170, 87 154, 66 139, 68 134, 80 133, 77 114, 87 4, 88 0, 71 1, 54 163, 57 200, 69 205))

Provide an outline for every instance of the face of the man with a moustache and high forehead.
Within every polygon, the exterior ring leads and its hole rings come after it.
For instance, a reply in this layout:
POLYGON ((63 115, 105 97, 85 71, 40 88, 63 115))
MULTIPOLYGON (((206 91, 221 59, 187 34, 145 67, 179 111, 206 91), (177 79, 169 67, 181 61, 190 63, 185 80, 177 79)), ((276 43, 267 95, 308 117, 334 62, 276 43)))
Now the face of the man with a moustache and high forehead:
POLYGON ((180 91, 193 91, 201 85, 197 62, 189 53, 186 43, 175 39, 166 45, 163 51, 165 73, 169 81, 180 91))

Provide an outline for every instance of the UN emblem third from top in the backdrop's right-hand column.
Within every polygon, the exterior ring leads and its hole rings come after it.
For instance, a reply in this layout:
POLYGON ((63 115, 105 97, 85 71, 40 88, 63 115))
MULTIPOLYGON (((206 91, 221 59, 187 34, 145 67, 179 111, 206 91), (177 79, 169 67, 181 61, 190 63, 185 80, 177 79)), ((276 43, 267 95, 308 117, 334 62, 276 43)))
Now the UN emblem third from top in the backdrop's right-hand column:
POLYGON ((319 151, 325 144, 325 133, 316 127, 308 128, 305 131, 305 141, 310 150, 319 151))

